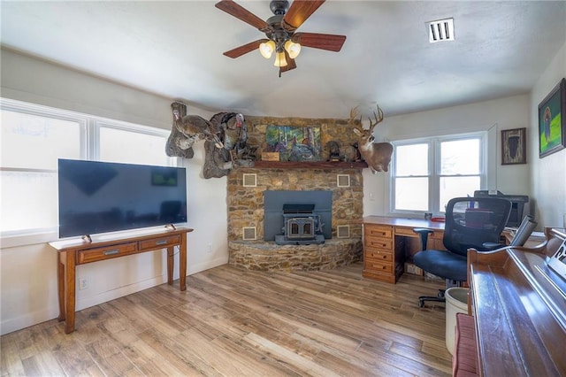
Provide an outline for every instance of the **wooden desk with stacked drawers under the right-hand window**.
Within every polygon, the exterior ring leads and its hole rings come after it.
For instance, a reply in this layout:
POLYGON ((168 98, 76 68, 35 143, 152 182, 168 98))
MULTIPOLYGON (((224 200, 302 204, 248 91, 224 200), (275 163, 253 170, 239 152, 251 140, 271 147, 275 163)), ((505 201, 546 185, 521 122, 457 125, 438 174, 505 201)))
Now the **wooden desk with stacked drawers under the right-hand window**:
POLYGON ((442 244, 444 223, 427 219, 404 219, 386 216, 363 218, 363 277, 395 283, 401 277, 405 261, 421 249, 413 228, 425 227, 433 233, 428 248, 445 250, 442 244))

